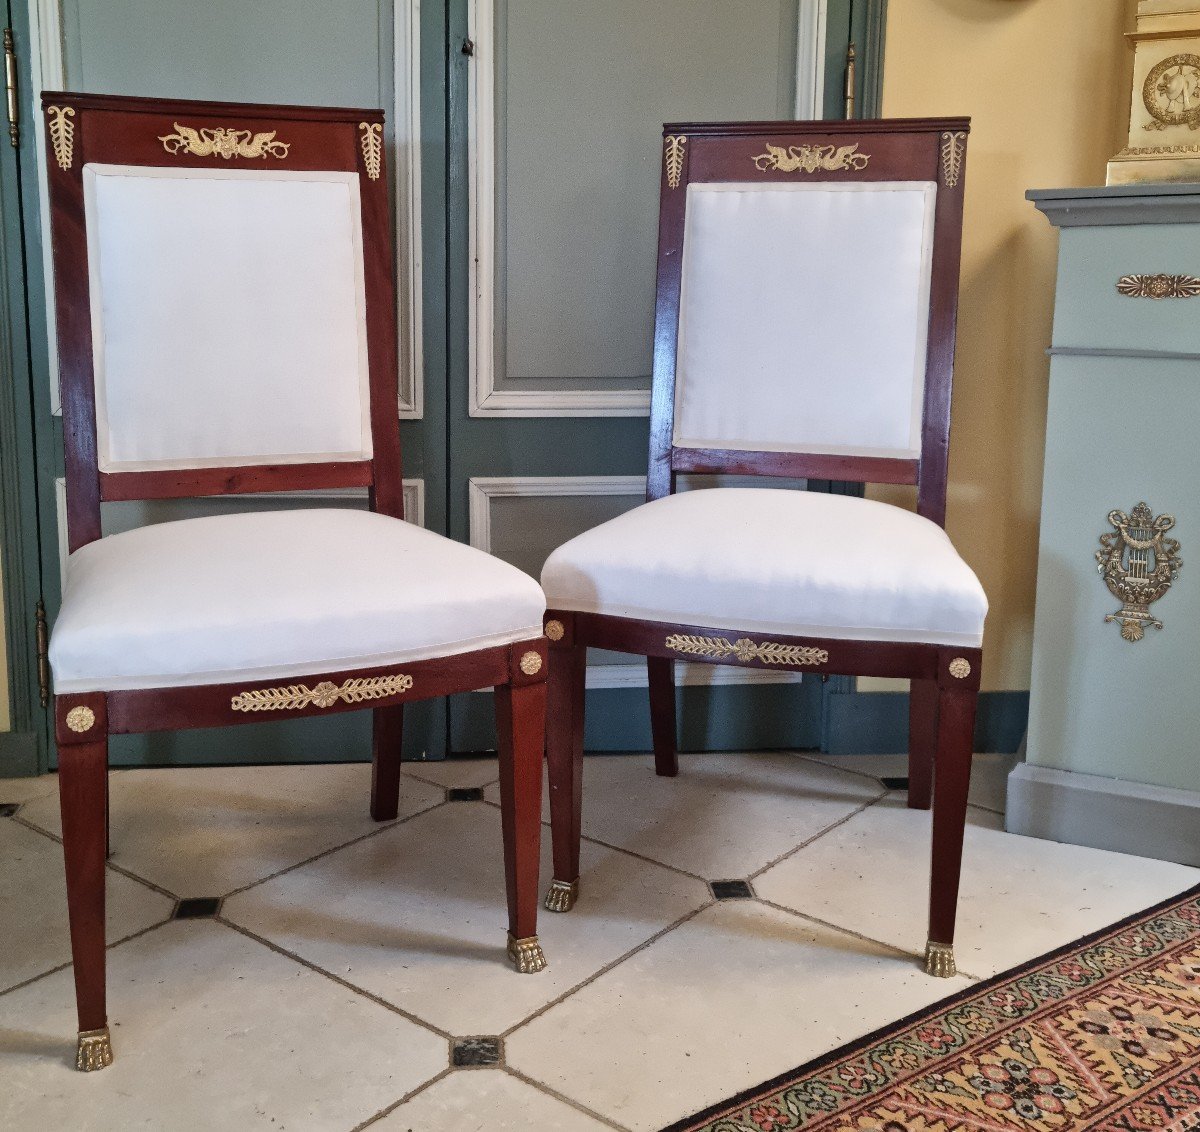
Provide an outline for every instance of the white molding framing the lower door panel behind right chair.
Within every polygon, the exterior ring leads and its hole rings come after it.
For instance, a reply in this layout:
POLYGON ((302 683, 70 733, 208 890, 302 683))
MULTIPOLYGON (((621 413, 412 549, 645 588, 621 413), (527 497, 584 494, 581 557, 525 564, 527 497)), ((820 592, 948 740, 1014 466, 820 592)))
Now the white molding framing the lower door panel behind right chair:
MULTIPOLYGON (((701 489, 703 490, 703 489, 701 489)), ((570 498, 580 496, 646 496, 644 475, 492 475, 467 483, 470 545, 492 551, 492 501, 522 498, 570 498)), ((798 684, 798 672, 764 672, 724 664, 677 664, 677 684, 798 684)), ((588 688, 644 688, 646 661, 590 664, 588 688)))

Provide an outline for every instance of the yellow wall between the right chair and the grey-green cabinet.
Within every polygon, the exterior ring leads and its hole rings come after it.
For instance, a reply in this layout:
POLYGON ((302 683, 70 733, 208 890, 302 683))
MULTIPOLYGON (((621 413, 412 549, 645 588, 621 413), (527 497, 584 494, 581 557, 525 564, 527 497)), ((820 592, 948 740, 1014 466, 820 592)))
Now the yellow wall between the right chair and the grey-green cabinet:
POLYGON ((883 114, 972 118, 947 527, 991 603, 985 688, 1030 687, 1057 233, 1025 191, 1104 184, 1128 128, 1128 16, 1126 0, 888 5, 883 114))

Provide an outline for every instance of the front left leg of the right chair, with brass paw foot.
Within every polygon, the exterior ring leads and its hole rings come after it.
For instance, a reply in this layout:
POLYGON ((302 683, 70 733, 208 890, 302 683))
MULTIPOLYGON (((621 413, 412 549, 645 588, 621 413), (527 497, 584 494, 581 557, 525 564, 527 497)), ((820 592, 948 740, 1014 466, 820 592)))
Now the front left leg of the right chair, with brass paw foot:
POLYGON ((569 912, 580 893, 580 837, 583 814, 583 703, 587 648, 552 648, 547 690, 546 761, 554 879, 546 909, 569 912))

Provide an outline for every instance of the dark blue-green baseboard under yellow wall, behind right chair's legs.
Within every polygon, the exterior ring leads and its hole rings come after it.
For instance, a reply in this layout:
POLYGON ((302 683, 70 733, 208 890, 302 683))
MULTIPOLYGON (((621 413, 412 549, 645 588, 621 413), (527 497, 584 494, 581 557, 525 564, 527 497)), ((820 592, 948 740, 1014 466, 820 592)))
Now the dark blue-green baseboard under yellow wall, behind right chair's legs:
MULTIPOLYGON (((976 715, 974 749, 1010 755, 1021 743, 1030 715, 1027 691, 983 691, 976 715)), ((899 755, 908 750, 908 693, 852 691, 826 701, 830 755, 899 755)))

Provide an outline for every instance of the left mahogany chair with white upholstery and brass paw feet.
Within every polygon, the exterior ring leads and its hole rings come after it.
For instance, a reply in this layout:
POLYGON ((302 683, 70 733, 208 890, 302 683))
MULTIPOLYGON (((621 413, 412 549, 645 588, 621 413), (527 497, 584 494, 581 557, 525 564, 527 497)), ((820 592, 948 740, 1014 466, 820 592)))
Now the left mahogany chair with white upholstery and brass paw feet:
POLYGON ((378 110, 43 95, 70 559, 50 640, 77 1066, 104 1001, 108 736, 374 713, 397 814, 404 705, 496 688, 508 954, 545 966, 536 583, 403 522, 378 110), (367 489, 370 511, 102 538, 101 503, 367 489))

